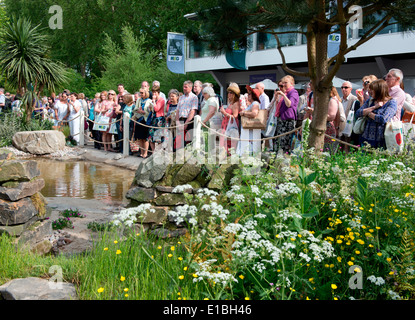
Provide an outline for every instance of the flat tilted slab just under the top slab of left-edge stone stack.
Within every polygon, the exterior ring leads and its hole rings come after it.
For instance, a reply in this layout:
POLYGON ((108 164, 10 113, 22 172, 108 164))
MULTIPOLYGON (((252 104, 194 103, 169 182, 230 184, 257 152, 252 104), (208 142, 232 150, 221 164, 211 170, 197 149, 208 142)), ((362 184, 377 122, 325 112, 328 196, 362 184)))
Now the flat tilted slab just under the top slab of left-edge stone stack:
POLYGON ((31 197, 35 193, 41 191, 45 186, 45 180, 38 178, 29 182, 16 182, 16 186, 6 182, 0 187, 0 199, 17 201, 26 197, 31 197), (9 187, 11 185, 11 187, 9 187))

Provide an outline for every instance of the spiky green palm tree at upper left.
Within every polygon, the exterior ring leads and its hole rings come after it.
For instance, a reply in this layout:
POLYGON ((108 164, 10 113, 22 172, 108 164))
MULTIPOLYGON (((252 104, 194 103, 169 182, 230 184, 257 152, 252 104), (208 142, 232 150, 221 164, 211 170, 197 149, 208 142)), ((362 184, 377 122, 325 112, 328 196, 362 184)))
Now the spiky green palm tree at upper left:
POLYGON ((64 66, 49 59, 48 38, 30 20, 11 18, 0 35, 0 69, 6 80, 23 95, 27 119, 34 101, 44 89, 54 92, 67 81, 64 66), (36 93, 36 94, 34 94, 36 93))

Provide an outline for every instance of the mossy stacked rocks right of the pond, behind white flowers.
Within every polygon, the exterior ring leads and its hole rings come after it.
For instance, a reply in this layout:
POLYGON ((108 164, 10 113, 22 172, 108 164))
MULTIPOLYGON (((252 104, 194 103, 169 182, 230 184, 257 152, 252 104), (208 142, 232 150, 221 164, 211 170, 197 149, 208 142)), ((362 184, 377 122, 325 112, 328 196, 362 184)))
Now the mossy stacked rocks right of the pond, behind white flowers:
POLYGON ((145 159, 138 167, 134 181, 126 194, 130 207, 150 203, 153 213, 137 217, 139 228, 150 229, 152 233, 165 238, 186 233, 184 226, 179 226, 171 219, 168 212, 176 206, 186 204, 184 193, 193 194, 200 188, 220 192, 232 178, 237 165, 199 164, 185 151, 183 161, 172 161, 171 154, 163 151, 145 159), (181 162, 181 163, 177 163, 181 162), (177 186, 190 185, 192 188, 173 193, 177 186))

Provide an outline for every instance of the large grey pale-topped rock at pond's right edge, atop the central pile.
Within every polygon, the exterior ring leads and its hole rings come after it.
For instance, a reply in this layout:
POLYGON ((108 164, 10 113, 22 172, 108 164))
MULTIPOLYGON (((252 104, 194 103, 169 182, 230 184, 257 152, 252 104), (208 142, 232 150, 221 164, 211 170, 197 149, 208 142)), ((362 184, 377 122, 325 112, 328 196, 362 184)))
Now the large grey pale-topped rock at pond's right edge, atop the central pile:
POLYGON ((155 152, 151 157, 140 163, 135 173, 133 185, 151 188, 155 182, 163 178, 172 161, 171 153, 163 150, 155 152))

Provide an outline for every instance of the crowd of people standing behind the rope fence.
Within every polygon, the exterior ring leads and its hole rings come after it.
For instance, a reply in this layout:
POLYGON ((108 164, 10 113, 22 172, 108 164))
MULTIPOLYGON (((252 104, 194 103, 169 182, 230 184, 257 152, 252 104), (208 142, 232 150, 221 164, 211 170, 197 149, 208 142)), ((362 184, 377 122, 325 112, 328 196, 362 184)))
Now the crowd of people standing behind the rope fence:
MULTIPOLYGON (((123 114, 128 113, 131 119, 129 139, 138 145, 133 148, 130 144, 129 154, 137 153, 141 158, 147 158, 166 140, 171 139, 167 142, 171 143, 173 151, 190 143, 196 115, 201 117, 207 151, 219 146, 228 154, 231 148, 239 154, 245 151, 254 154, 267 147, 276 153, 281 150, 290 154, 295 143, 301 140, 301 130, 295 129, 302 128, 305 120, 313 120, 312 83, 304 87, 301 95, 295 89, 292 76, 280 79, 271 97, 265 92, 262 82, 242 89, 245 94, 237 83, 230 83, 226 101, 215 92, 211 83, 201 81, 185 81, 182 92, 171 89, 167 95, 160 91, 158 81, 153 81, 151 87, 143 81, 135 93, 127 92, 124 85, 119 84, 118 93, 114 90, 102 91, 93 99, 87 99, 83 93, 64 90, 58 96, 43 97, 35 104, 33 114, 50 119, 56 128, 67 123, 70 135, 79 143, 80 135, 84 134, 80 132, 80 111, 83 110, 87 117, 84 130, 94 141, 94 147, 122 153, 123 114), (267 110, 265 128, 244 128, 242 119, 257 118, 261 110, 267 110), (177 139, 178 132, 183 133, 183 141, 177 139), (212 132, 213 136, 218 134, 218 141, 209 138, 212 132), (275 136, 280 138, 264 139, 275 136)), ((21 112, 19 101, 20 97, 12 97, 0 89, 0 109, 21 112)), ((405 112, 415 112, 415 97, 405 93, 402 71, 391 69, 382 79, 374 75, 364 76, 362 88, 355 94, 348 81, 342 84, 341 95, 333 87, 327 108, 325 150, 331 150, 335 141, 332 138, 346 143, 343 145, 345 152, 350 152, 348 144, 363 145, 365 142, 374 148, 386 149, 386 124, 400 120, 405 112), (356 133, 350 126, 353 127, 359 117, 366 117, 367 120, 364 130, 356 133)))

